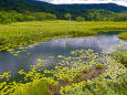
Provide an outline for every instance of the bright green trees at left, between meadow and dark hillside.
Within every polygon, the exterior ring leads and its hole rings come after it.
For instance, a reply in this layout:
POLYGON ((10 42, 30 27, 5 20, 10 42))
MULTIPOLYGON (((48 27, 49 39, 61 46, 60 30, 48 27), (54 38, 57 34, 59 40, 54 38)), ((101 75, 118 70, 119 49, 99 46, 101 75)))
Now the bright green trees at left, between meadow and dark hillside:
POLYGON ((55 20, 56 15, 46 12, 17 12, 13 10, 10 11, 0 11, 0 23, 10 23, 10 22, 21 22, 21 21, 42 21, 42 20, 55 20))

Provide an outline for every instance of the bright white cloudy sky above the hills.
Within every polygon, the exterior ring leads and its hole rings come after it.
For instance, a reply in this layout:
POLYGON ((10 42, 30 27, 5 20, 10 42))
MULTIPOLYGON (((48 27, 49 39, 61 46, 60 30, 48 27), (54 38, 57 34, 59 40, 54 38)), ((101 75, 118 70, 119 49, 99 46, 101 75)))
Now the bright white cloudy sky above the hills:
POLYGON ((46 1, 54 4, 60 3, 109 3, 114 2, 120 6, 127 7, 127 0, 40 0, 40 1, 46 1))

